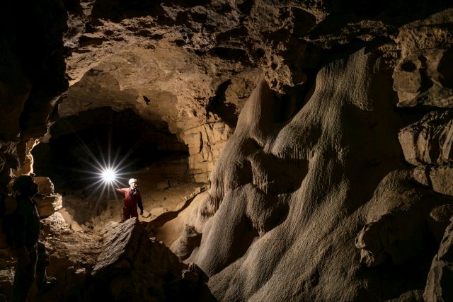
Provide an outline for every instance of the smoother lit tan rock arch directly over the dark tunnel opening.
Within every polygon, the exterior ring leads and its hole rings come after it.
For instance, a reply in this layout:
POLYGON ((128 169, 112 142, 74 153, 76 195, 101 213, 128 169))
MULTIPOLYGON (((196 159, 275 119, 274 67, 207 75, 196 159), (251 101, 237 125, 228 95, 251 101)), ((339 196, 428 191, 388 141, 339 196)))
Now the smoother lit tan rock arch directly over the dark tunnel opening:
POLYGON ((241 100, 248 97, 259 76, 258 69, 245 68, 240 62, 218 58, 202 62, 196 54, 172 45, 155 50, 139 45, 114 48, 113 54, 71 86, 59 108, 62 117, 105 105, 115 110, 134 108, 156 124, 164 121, 177 133, 219 120, 207 112, 207 106, 222 83, 226 83, 224 101, 234 106, 237 115, 241 100))

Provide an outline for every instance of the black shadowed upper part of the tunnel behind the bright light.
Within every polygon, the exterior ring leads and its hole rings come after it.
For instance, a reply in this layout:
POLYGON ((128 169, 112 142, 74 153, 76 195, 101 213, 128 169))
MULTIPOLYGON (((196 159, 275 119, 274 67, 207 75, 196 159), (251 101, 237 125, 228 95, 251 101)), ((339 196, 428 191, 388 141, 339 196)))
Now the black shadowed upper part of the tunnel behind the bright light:
POLYGON ((48 143, 33 149, 34 170, 48 175, 56 190, 87 188, 99 180, 98 168, 117 167, 123 184, 162 160, 188 158, 188 148, 167 129, 159 129, 133 110, 97 108, 56 122, 48 143), (135 176, 134 176, 135 175, 135 176))

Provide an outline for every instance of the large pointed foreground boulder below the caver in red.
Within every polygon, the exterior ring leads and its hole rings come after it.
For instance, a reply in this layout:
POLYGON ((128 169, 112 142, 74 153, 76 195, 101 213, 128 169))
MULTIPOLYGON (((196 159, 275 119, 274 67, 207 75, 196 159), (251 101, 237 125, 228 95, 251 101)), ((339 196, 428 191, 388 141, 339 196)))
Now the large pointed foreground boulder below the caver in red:
MULTIPOLYGON (((190 284, 182 278, 184 265, 157 240, 149 239, 138 219, 105 229, 103 250, 91 276, 96 292, 113 301, 182 299, 190 284)), ((195 280, 198 284, 199 280, 195 280)))

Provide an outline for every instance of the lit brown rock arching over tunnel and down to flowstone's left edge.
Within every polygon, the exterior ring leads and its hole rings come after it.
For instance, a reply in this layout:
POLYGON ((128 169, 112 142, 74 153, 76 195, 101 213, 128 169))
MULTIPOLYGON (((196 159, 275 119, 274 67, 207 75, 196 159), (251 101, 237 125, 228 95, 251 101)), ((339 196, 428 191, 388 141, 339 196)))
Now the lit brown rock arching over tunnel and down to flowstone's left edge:
POLYGON ((188 145, 198 182, 208 181, 263 71, 284 92, 319 62, 316 47, 299 40, 316 18, 297 7, 74 2, 64 38, 71 88, 60 115, 110 104, 166 123, 188 145))

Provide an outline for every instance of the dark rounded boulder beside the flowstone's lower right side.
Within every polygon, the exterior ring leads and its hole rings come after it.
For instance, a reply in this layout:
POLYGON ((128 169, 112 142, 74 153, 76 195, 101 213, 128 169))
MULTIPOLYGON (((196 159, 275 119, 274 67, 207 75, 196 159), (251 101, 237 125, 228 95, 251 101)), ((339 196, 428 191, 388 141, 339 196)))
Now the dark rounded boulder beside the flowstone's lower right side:
POLYGON ((442 211, 449 213, 453 204, 442 204, 442 199, 430 190, 411 187, 401 176, 384 178, 382 185, 390 181, 394 184, 381 192, 374 202, 381 203, 378 207, 387 204, 388 208, 380 215, 375 211, 377 217, 367 223, 355 239, 362 265, 403 265, 423 255, 425 246, 430 244, 430 233, 438 235, 437 223, 446 226, 442 211), (389 199, 394 200, 390 202, 389 199), (431 227, 427 228, 427 225, 431 227), (417 236, 411 235, 413 233, 417 236))

